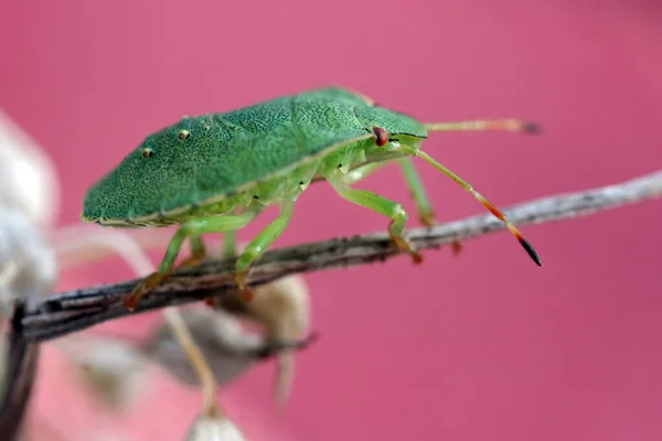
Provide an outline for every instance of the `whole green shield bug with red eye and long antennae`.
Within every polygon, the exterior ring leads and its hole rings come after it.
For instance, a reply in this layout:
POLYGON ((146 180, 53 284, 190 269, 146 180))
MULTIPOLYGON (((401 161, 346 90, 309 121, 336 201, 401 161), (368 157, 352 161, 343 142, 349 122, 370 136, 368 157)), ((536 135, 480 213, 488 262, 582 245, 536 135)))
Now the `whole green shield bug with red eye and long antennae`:
POLYGON ((111 227, 179 225, 157 271, 125 300, 134 310, 146 292, 175 269, 203 259, 202 235, 225 234, 224 248, 232 250, 234 232, 275 204, 278 216, 236 259, 235 282, 249 301, 252 265, 286 229, 297 197, 313 180, 323 180, 340 197, 388 217, 394 245, 420 262, 420 254, 403 235, 408 215, 402 205, 351 186, 397 162, 419 218, 431 225, 430 204, 412 161, 420 158, 472 194, 542 266, 533 247, 499 208, 420 150, 429 132, 457 130, 534 133, 538 126, 515 119, 423 123, 345 88, 311 89, 228 112, 184 117, 149 135, 87 191, 81 218, 111 227), (191 256, 175 266, 186 238, 191 256))

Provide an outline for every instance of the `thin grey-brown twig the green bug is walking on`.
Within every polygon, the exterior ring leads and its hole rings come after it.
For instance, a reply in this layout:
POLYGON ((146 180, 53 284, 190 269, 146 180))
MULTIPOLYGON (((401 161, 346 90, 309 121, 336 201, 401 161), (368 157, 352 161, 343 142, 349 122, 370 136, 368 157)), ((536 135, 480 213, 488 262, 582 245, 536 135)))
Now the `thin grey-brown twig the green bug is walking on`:
MULTIPOLYGON (((616 185, 543 197, 505 209, 513 224, 541 224, 584 216, 662 195, 662 171, 616 185)), ((416 228, 408 237, 419 249, 438 248, 503 229, 491 215, 468 217, 433 228, 416 228)), ((268 251, 253 267, 250 286, 264 284, 296 272, 365 265, 399 255, 385 233, 337 238, 268 251)), ((44 342, 95 324, 130 315, 124 298, 138 280, 96 286, 54 294, 32 305, 21 318, 23 337, 44 342)), ((143 297, 136 312, 196 302, 205 298, 234 299, 234 260, 205 261, 181 270, 143 297), (233 295, 228 295, 233 294, 233 295)), ((20 309, 18 309, 20 310, 20 309)))

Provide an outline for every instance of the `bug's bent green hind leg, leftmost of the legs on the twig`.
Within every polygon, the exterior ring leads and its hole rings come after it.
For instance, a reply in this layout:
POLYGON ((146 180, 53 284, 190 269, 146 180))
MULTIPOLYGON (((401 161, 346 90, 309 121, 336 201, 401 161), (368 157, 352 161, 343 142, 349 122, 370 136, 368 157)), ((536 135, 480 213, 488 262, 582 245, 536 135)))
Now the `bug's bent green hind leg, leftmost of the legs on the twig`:
MULTIPOLYGON (((255 218, 257 212, 252 211, 243 213, 237 216, 222 216, 222 217, 202 217, 186 220, 177 230, 168 248, 166 255, 159 263, 159 268, 156 272, 145 278, 125 300, 125 306, 132 311, 136 302, 149 290, 162 282, 174 270, 174 261, 186 237, 199 237, 205 233, 223 233, 239 229, 246 226, 250 220, 255 218)), ((202 245, 202 243, 200 243, 202 245)), ((192 249, 195 249, 195 239, 192 244, 192 249)))

